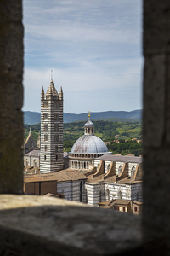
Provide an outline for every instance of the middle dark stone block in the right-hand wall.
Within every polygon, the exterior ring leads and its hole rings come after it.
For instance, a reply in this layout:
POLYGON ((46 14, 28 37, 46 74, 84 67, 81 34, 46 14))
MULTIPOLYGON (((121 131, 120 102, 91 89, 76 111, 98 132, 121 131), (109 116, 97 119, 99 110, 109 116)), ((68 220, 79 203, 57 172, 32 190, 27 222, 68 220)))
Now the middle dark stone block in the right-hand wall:
POLYGON ((144 147, 159 147, 165 132, 166 56, 145 58, 144 63, 144 147), (160 86, 161 84, 161 86, 160 86))

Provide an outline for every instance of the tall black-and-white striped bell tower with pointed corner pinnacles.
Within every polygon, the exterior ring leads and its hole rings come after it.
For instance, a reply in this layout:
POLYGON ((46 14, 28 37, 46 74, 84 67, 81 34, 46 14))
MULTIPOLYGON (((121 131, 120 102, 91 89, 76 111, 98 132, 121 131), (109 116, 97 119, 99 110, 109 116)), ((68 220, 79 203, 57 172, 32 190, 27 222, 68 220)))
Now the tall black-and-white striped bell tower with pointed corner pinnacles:
POLYGON ((41 93, 40 172, 56 172, 64 168, 63 160, 63 90, 59 94, 53 79, 46 94, 41 93))

